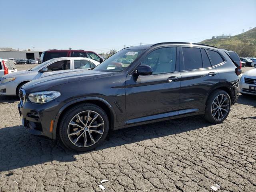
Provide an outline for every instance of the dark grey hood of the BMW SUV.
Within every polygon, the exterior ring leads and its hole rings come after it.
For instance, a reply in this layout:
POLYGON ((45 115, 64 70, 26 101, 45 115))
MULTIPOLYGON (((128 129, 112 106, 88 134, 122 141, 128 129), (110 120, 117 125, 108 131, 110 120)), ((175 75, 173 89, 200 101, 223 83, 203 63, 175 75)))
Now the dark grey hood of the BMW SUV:
POLYGON ((42 90, 51 90, 55 86, 66 84, 69 82, 84 81, 93 78, 99 78, 115 74, 114 72, 100 72, 96 70, 79 70, 72 72, 64 72, 42 77, 26 83, 22 88, 26 92, 37 92, 42 90))

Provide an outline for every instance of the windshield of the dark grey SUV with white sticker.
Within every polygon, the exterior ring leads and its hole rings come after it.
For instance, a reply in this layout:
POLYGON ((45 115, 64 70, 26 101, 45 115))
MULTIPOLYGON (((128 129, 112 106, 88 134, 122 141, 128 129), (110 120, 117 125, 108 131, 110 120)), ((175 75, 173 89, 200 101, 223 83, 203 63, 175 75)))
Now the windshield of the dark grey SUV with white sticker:
POLYGON ((104 60, 104 62, 96 66, 94 70, 106 72, 120 72, 127 68, 143 52, 144 49, 120 50, 108 59, 104 60))

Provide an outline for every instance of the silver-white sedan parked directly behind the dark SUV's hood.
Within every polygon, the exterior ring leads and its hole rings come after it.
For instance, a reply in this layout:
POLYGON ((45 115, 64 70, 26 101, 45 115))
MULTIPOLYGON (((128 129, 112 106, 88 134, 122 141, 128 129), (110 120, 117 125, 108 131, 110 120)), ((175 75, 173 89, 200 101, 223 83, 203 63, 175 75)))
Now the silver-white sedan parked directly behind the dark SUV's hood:
POLYGON ((27 82, 52 74, 94 68, 98 64, 100 62, 84 57, 53 58, 29 70, 22 70, 0 78, 0 95, 18 96, 18 91, 27 82))

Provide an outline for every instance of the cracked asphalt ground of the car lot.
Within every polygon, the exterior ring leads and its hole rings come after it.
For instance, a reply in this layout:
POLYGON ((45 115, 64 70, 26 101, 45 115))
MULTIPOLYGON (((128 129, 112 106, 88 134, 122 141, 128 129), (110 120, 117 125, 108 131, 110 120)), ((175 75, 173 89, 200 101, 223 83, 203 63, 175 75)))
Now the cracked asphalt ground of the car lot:
POLYGON ((256 191, 254 96, 240 96, 222 124, 194 116, 136 126, 85 153, 28 134, 17 105, 0 97, 1 192, 101 191, 102 179, 106 191, 256 191))

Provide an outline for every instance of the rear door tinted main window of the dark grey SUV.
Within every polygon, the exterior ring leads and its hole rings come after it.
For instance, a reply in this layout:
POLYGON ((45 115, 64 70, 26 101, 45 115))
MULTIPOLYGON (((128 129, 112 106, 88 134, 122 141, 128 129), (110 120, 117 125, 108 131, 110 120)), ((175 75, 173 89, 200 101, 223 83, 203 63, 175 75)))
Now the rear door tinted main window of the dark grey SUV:
POLYGON ((182 47, 185 70, 203 68, 202 56, 199 48, 182 47))

